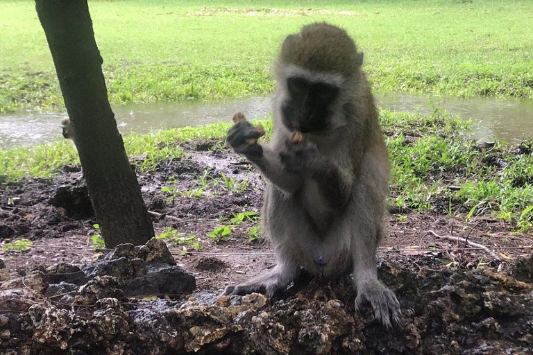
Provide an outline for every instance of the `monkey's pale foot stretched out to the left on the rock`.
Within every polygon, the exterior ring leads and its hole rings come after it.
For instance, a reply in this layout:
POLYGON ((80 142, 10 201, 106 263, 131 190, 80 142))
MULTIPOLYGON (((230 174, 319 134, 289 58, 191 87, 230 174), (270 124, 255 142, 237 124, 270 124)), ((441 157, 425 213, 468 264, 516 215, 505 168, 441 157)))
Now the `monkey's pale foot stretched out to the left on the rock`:
POLYGON ((279 263, 272 270, 255 277, 244 284, 230 285, 222 295, 248 295, 248 293, 264 293, 272 297, 276 291, 287 287, 298 276, 298 269, 293 264, 279 263))

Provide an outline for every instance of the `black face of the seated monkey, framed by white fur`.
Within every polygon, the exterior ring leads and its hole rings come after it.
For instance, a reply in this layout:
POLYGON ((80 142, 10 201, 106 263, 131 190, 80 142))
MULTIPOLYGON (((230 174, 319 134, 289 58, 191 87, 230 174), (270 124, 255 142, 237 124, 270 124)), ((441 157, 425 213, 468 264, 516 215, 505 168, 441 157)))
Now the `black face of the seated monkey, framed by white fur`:
POLYGON ((287 89, 288 98, 281 107, 285 127, 303 133, 330 128, 330 117, 333 104, 339 96, 339 87, 292 76, 287 79, 287 89))

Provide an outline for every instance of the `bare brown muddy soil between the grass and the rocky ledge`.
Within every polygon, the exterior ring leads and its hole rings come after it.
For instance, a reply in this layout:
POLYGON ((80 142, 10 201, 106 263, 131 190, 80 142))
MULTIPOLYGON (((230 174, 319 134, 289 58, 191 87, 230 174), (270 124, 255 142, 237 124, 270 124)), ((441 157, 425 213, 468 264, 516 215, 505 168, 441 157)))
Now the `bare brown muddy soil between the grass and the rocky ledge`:
MULTIPOLYGON (((221 290, 227 284, 242 282, 271 268, 276 261, 268 243, 250 241, 250 231, 258 222, 246 218, 240 223, 231 222, 239 212, 260 211, 264 189, 260 175, 251 164, 225 150, 218 141, 187 142, 182 148, 185 149, 183 159, 163 162, 155 171, 139 173, 146 205, 159 214, 153 217, 156 232, 173 228, 183 236, 196 236, 200 250, 194 250, 192 244, 176 245, 167 241, 178 261, 194 272, 198 288, 203 291, 221 290), (165 191, 165 187, 172 193, 165 191), (192 192, 187 196, 184 191, 192 192), (193 193, 196 195, 192 196, 193 193), (229 225, 231 233, 217 243, 209 234, 223 225, 229 225), (186 255, 183 255, 184 247, 188 251, 186 255), (225 267, 216 267, 215 261, 210 266, 209 260, 214 260, 210 258, 221 261, 225 267)), ((3 254, 1 258, 8 268, 49 266, 58 262, 81 265, 94 260, 98 253, 92 248, 91 236, 98 231, 92 227, 96 221, 87 214, 87 208, 80 207, 83 204, 79 202, 84 200, 80 178, 78 167, 67 166, 51 180, 23 180, 0 187, 3 243, 22 238, 33 241, 33 246, 25 252, 11 250, 3 254), (54 207, 51 202, 60 207, 54 207)), ((389 238, 378 255, 412 270, 484 267, 509 270, 515 259, 530 253, 530 249, 522 247, 533 245, 533 236, 515 234, 511 223, 489 216, 471 218, 466 223, 438 214, 450 208, 449 200, 443 200, 441 207, 438 201, 435 204, 437 213, 414 214, 393 209, 389 238), (429 230, 486 245, 496 250, 503 261, 496 261, 466 243, 439 239, 429 234, 429 230)), ((459 202, 451 205, 453 210, 461 206, 459 202)))

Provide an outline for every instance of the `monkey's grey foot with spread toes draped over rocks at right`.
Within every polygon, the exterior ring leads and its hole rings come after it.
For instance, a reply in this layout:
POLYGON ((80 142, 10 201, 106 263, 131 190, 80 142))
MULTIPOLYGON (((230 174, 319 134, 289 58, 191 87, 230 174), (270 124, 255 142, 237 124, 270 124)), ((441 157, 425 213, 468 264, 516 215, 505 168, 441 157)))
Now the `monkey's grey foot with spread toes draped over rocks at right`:
POLYGON ((366 300, 372 305, 375 318, 380 320, 385 327, 391 327, 392 323, 400 324, 402 311, 394 292, 383 286, 377 279, 357 287, 355 309, 359 309, 366 300))

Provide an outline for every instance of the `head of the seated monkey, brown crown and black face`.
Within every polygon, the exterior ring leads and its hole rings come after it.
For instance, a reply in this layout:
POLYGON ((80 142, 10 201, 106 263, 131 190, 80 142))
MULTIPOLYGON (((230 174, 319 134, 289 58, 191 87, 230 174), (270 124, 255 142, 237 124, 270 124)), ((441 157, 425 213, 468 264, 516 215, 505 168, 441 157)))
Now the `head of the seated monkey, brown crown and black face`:
POLYGON ((282 123, 289 130, 323 132, 346 125, 363 53, 346 31, 329 24, 305 26, 289 35, 276 63, 282 123))

